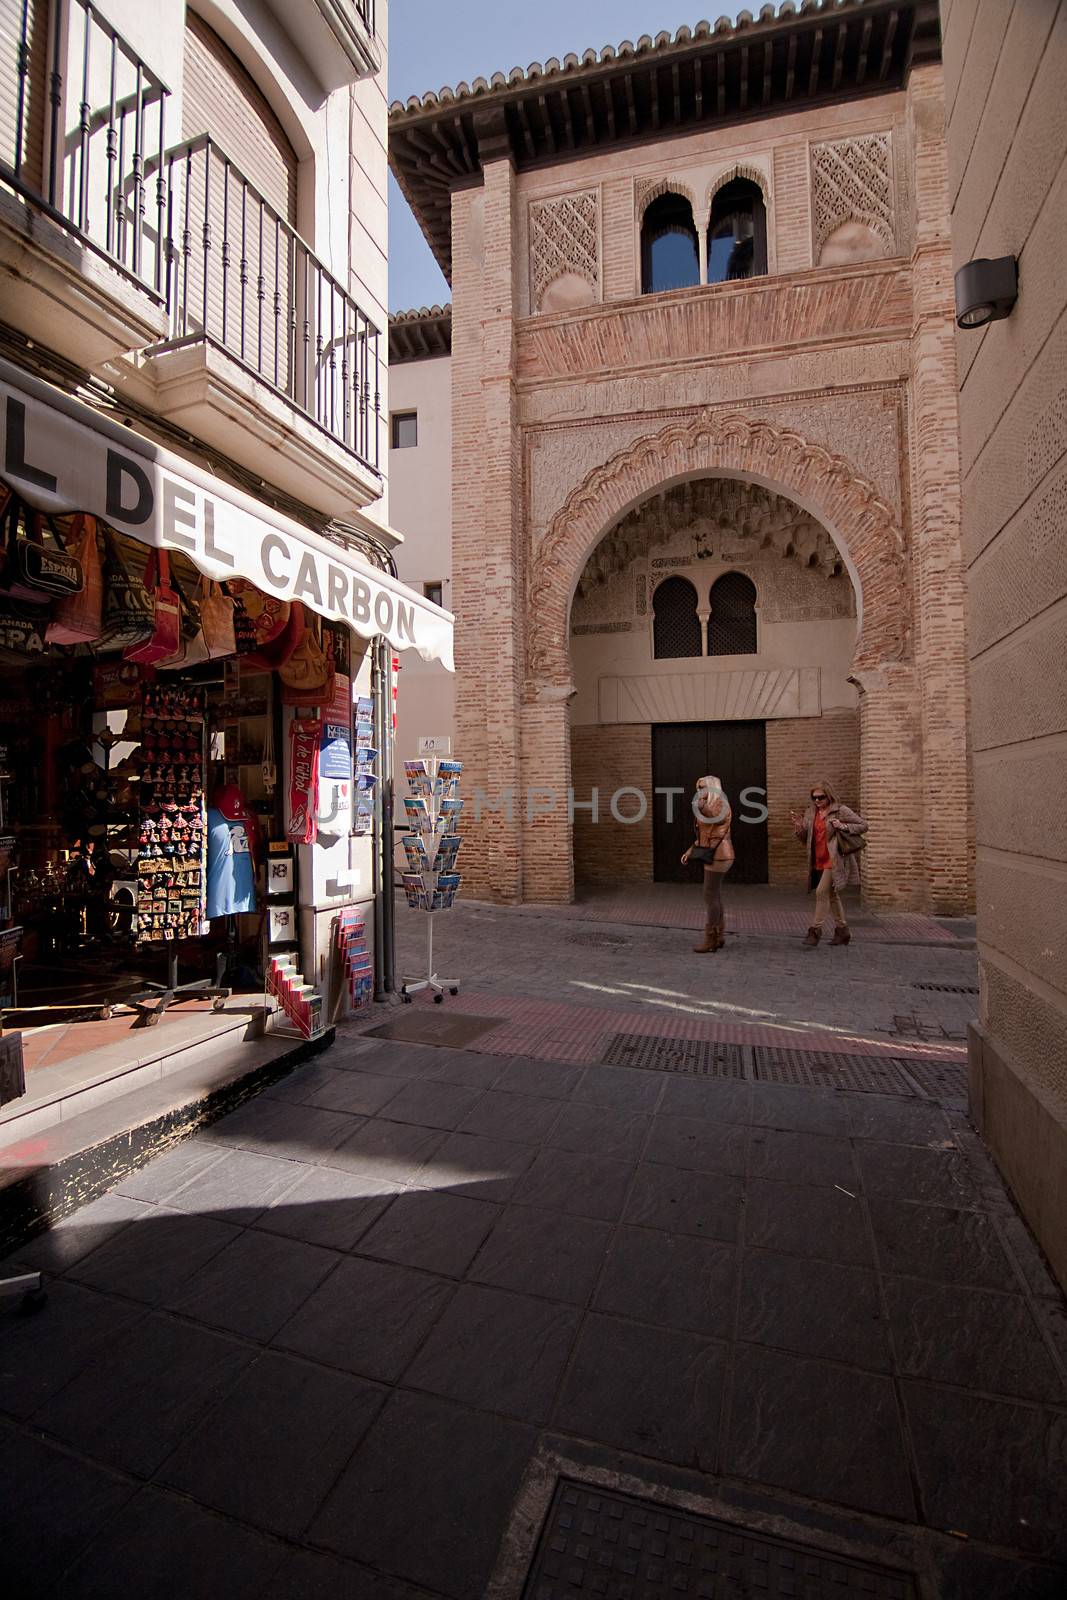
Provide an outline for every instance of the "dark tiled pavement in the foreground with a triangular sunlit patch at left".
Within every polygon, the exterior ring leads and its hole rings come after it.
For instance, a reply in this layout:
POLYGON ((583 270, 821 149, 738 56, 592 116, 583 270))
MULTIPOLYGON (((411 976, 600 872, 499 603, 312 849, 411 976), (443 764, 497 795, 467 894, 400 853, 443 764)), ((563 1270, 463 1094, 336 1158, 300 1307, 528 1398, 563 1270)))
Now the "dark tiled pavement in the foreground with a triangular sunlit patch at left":
POLYGON ((1067 1592, 1064 1302, 931 1101, 349 1037, 22 1259, 18 1597, 518 1597, 558 1461, 1067 1592))

